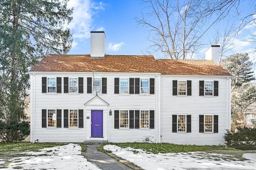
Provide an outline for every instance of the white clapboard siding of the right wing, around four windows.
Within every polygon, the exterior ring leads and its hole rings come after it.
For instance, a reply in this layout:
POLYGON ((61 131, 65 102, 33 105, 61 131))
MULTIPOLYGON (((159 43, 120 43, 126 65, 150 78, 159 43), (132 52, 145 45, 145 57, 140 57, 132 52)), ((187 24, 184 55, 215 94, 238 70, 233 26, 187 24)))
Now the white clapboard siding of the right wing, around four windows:
POLYGON ((230 80, 223 76, 162 76, 161 126, 162 143, 219 145, 224 144, 224 133, 230 124, 230 80), (192 96, 172 96, 172 80, 191 80, 192 96), (217 80, 218 96, 199 96, 200 80, 217 80), (228 98, 227 98, 228 96, 228 98), (172 115, 191 115, 191 133, 172 133, 172 115), (199 115, 218 115, 218 133, 199 133, 199 115), (228 125, 228 126, 227 126, 228 125))

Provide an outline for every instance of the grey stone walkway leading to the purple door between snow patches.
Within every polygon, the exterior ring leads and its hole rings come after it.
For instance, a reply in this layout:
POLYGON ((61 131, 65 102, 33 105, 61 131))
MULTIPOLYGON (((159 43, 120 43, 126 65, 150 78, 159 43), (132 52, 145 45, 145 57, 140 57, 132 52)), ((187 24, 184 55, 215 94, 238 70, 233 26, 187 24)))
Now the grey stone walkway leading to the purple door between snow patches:
POLYGON ((96 164, 102 170, 132 170, 107 154, 98 151, 98 146, 99 145, 87 145, 85 156, 88 161, 96 164))

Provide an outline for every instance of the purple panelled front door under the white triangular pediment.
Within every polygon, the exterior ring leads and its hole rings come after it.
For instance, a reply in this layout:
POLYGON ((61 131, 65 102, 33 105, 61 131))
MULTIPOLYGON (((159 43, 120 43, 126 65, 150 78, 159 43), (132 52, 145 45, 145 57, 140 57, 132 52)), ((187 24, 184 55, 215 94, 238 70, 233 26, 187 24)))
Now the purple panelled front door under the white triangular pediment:
POLYGON ((92 110, 92 137, 103 137, 103 110, 92 110))

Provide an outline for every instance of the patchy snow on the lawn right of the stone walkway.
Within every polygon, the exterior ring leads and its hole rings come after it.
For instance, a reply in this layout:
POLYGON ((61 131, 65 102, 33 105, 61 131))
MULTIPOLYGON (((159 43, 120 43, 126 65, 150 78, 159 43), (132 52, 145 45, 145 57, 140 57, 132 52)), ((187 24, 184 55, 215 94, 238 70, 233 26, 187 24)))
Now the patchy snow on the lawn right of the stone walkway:
POLYGON ((210 169, 210 170, 255 170, 256 153, 244 154, 246 161, 224 160, 230 155, 213 154, 206 152, 166 153, 152 154, 141 149, 105 145, 104 149, 111 150, 113 154, 129 160, 145 170, 184 170, 184 169, 210 169), (133 152, 134 151, 134 152, 133 152), (253 160, 254 159, 254 160, 253 160))

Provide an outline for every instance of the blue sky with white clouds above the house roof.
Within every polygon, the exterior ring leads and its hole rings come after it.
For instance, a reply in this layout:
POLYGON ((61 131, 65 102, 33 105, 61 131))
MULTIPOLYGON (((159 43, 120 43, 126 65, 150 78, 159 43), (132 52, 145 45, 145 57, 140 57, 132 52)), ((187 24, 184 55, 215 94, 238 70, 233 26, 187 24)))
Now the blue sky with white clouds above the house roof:
MULTIPOLYGON (((140 0, 70 0, 68 7, 73 7, 73 20, 68 25, 73 33, 73 45, 68 54, 90 54, 90 31, 105 31, 106 54, 108 55, 147 55, 146 48, 150 45, 148 31, 145 27, 136 23, 135 17, 140 17, 145 12, 144 4, 140 0)), ((240 16, 250 12, 250 3, 247 0, 241 1, 239 6, 240 16)), ((218 31, 220 37, 223 31, 233 20, 230 18, 221 21, 211 28, 202 39, 199 52, 194 59, 202 59, 205 50, 214 42, 214 36, 218 31)), ((252 16, 256 17, 256 16, 252 16)), ((251 18, 252 18, 251 17, 251 18)), ((150 18, 149 18, 150 19, 150 18)), ((237 20, 239 24, 241 20, 237 20)), ((226 55, 232 53, 244 53, 255 50, 253 44, 247 40, 252 33, 255 33, 255 23, 248 25, 230 42, 230 49, 226 55)), ((161 58, 160 53, 152 53, 155 58, 161 58)), ((255 53, 250 53, 255 59, 255 53)))

